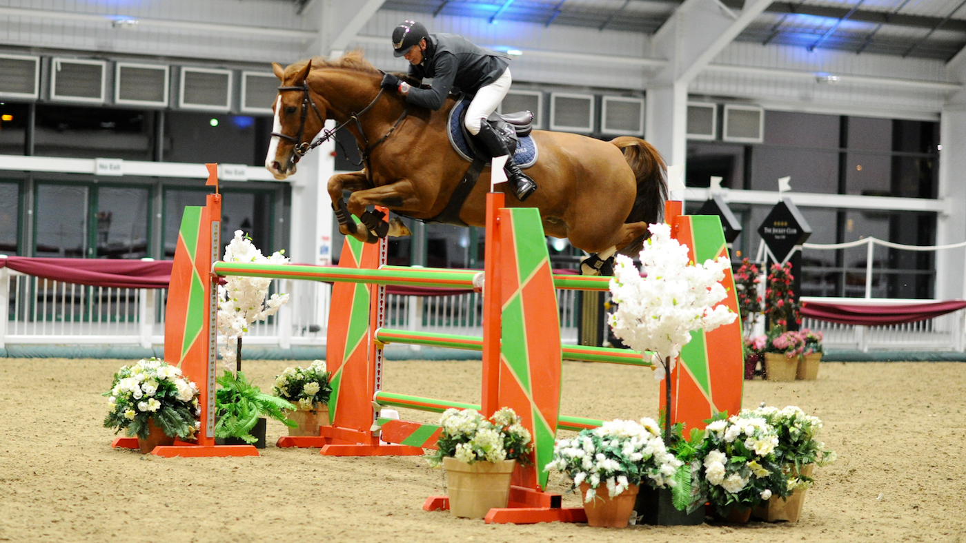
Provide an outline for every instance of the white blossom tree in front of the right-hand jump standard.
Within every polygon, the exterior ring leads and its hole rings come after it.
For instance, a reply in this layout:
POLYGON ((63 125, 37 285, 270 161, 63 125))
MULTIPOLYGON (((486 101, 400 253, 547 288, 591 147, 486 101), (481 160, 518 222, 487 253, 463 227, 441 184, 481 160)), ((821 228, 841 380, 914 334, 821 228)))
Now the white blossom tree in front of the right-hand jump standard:
MULTIPOLYGON (((647 230, 651 236, 640 250, 640 269, 631 258, 615 258, 611 295, 617 310, 610 324, 614 337, 633 349, 653 353, 654 378, 660 381, 674 368, 693 330, 714 330, 734 322, 737 315, 719 304, 727 295, 719 282, 731 265, 728 258, 696 264, 688 258, 688 247, 670 236, 667 224, 650 225, 647 230)), ((665 389, 668 439, 669 383, 665 389)))

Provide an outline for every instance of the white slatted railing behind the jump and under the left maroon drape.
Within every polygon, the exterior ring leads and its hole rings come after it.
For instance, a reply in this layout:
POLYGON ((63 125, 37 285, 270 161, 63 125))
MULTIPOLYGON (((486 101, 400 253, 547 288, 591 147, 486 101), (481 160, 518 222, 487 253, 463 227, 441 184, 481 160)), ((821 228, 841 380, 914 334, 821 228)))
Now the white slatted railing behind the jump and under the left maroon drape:
MULTIPOLYGON (((273 291, 289 303, 266 322, 256 323, 245 343, 325 345, 331 286, 280 280, 273 291)), ((0 268, 0 348, 6 344, 140 345, 164 343, 166 289, 72 285, 0 268)), ((577 342, 577 292, 557 290, 561 338, 577 342)), ((483 297, 386 296, 387 328, 482 336, 483 297)))

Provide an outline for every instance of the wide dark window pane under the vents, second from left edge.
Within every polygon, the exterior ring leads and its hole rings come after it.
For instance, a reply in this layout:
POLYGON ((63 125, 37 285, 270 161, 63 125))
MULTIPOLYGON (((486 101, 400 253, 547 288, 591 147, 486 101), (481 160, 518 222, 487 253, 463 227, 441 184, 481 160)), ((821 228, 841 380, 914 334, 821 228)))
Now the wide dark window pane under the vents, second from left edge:
POLYGON ((141 110, 38 104, 34 153, 151 160, 154 126, 154 114, 141 110))

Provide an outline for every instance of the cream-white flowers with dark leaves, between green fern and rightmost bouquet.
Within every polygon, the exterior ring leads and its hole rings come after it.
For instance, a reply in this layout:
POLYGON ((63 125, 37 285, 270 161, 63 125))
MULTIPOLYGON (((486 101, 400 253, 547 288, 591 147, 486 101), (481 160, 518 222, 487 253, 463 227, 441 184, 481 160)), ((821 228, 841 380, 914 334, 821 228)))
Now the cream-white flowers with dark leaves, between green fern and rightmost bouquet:
POLYGON ((763 418, 732 416, 704 429, 701 492, 720 514, 748 509, 773 495, 788 496, 778 458, 779 437, 763 418))

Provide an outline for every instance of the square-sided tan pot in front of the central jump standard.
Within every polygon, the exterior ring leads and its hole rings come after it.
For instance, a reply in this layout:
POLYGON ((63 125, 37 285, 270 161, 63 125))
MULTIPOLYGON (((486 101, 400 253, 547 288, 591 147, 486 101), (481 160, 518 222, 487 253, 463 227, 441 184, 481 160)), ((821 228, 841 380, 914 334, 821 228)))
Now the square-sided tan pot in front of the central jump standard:
POLYGON ((494 507, 506 507, 510 477, 516 460, 473 462, 444 457, 449 512, 457 517, 482 519, 494 507))

